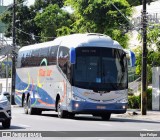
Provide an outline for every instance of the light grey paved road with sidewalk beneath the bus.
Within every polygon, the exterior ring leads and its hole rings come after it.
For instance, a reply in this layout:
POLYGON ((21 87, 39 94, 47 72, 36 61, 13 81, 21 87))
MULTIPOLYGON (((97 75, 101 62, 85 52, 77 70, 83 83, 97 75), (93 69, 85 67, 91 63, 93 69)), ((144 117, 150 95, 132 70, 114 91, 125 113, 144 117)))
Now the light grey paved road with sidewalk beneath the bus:
MULTIPOLYGON (((3 130, 0 124, 0 131, 3 130)), ((142 116, 140 110, 128 110, 125 114, 112 114, 110 121, 103 121, 100 117, 93 117, 92 115, 76 115, 74 119, 59 119, 57 113, 54 111, 44 111, 42 115, 26 115, 24 110, 18 106, 12 106, 12 125, 8 131, 22 131, 23 133, 29 131, 45 131, 48 134, 58 134, 62 137, 50 137, 50 139, 62 140, 110 140, 113 136, 123 136, 127 134, 128 138, 116 137, 116 140, 134 140, 142 139, 142 134, 158 131, 156 140, 160 140, 160 111, 147 111, 147 115, 142 116), (136 114, 136 115, 134 115, 136 114), (67 132, 68 131, 68 132, 67 132), (54 132, 54 133, 53 133, 54 132), (71 133, 70 133, 71 132, 71 133), (97 137, 66 137, 63 135, 72 135, 75 132, 82 133, 85 136, 87 133, 92 133, 97 137), (84 133, 83 133, 84 132, 84 133), (133 133, 134 134, 133 134, 133 133), (141 132, 143 132, 141 134, 141 132), (107 134, 109 137, 98 137, 99 134, 107 134), (132 134, 131 134, 132 133, 132 134), (63 134, 63 135, 62 135, 63 134), (135 135, 138 134, 138 137, 135 135), (112 135, 112 137, 110 137, 112 135), (132 138, 131 136, 134 136, 132 138)), ((156 132, 155 132, 156 133, 156 132)), ((157 133, 156 133, 157 134, 157 133)), ((0 138, 1 139, 1 138, 0 138)), ((18 140, 26 138, 18 137, 18 140)), ((27 138, 28 140, 32 138, 27 138)), ((40 140, 41 138, 34 138, 40 140)), ((48 138, 44 138, 48 139, 48 138)), ((155 139, 153 137, 145 138, 146 140, 155 139)), ((3 140, 5 140, 3 138, 3 140)), ((6 140, 9 140, 6 138, 6 140)), ((17 140, 17 137, 12 140, 17 140)))

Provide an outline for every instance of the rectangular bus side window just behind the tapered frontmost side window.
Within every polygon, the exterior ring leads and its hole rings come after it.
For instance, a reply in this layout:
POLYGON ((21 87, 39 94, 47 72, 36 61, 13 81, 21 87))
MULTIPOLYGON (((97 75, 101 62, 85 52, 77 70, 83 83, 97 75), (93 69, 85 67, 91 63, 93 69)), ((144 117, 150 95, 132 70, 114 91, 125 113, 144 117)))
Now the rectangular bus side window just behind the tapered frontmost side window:
POLYGON ((56 65, 57 64, 57 50, 58 46, 50 47, 50 52, 48 56, 48 65, 56 65))

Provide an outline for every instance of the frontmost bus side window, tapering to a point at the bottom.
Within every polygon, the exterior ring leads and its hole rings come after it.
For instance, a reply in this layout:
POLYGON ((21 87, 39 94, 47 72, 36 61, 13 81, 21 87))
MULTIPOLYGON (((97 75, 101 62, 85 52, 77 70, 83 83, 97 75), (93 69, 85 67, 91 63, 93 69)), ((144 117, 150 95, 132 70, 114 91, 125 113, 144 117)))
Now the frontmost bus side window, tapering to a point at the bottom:
POLYGON ((67 76, 68 62, 69 62, 69 48, 61 46, 59 48, 59 54, 58 54, 58 65, 66 76, 67 76))

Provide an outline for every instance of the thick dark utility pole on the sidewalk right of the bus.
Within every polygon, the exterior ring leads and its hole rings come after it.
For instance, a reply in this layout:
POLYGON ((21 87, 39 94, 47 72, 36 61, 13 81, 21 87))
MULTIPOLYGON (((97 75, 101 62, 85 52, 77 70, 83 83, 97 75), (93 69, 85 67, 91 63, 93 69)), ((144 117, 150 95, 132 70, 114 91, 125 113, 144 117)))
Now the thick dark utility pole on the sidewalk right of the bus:
POLYGON ((147 115, 147 17, 146 0, 143 0, 142 12, 143 49, 142 49, 142 89, 141 89, 141 114, 147 115))

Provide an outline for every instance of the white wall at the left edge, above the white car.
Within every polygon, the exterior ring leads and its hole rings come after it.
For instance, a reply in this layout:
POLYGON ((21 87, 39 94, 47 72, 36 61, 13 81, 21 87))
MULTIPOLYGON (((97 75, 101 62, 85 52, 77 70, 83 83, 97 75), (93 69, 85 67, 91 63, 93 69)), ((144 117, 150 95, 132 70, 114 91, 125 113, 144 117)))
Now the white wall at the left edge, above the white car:
POLYGON ((11 93, 11 78, 8 78, 8 85, 7 85, 7 79, 6 78, 1 78, 0 79, 0 92, 7 91, 11 93), (7 86, 7 88, 6 88, 7 86))

